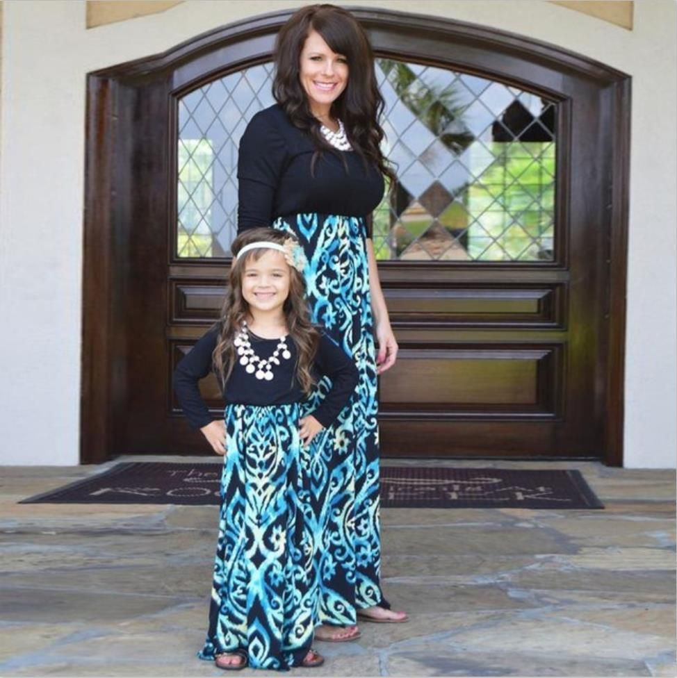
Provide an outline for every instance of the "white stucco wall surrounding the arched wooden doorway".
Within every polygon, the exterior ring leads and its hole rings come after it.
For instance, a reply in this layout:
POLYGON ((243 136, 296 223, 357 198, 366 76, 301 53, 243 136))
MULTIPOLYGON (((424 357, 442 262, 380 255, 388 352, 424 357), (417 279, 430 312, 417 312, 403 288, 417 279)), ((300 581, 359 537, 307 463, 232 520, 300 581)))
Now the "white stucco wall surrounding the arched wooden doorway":
MULTIPOLYGON (((78 463, 85 74, 302 4, 189 0, 87 31, 83 1, 3 3, 0 463, 78 463)), ((633 75, 625 465, 674 467, 675 3, 635 3, 634 31, 540 0, 345 4, 522 33, 633 75)))

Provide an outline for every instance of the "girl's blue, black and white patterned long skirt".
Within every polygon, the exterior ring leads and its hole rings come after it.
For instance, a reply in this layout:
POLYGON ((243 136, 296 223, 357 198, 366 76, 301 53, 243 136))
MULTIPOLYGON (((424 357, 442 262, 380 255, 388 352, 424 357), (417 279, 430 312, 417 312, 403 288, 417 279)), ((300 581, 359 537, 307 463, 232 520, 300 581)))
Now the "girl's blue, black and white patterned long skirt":
POLYGON ((225 408, 219 536, 200 659, 245 650, 254 668, 300 665, 318 605, 310 452, 298 404, 225 408))

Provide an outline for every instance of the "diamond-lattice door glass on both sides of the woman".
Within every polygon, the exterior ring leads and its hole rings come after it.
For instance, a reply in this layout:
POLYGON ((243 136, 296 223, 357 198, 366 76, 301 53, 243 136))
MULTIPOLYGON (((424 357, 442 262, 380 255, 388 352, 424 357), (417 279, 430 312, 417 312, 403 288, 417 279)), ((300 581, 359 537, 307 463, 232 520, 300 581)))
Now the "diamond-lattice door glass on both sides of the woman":
MULTIPOLYGON (((448 69, 378 59, 376 71, 398 176, 373 214, 377 258, 553 261, 555 104, 448 69)), ((179 257, 227 256, 238 142, 271 83, 268 63, 179 101, 179 257)))

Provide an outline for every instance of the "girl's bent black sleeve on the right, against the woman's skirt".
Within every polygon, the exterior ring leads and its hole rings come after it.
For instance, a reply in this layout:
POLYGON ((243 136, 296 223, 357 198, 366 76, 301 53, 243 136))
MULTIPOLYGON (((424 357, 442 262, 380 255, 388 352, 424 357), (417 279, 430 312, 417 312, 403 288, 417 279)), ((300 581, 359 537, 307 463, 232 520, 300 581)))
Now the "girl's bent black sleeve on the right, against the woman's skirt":
POLYGON ((332 380, 332 390, 312 413, 313 417, 327 428, 336 420, 338 413, 350 400, 350 396, 357 387, 359 372, 352 358, 349 358, 345 351, 324 332, 320 333, 320 345, 315 364, 320 374, 326 374, 332 380))

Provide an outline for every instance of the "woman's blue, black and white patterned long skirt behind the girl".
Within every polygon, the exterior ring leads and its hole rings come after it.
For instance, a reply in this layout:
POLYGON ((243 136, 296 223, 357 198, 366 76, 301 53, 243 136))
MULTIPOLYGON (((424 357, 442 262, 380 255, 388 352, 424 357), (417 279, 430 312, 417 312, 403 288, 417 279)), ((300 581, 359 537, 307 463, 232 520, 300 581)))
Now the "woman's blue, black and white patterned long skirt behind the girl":
MULTIPOLYGON (((313 321, 354 358, 359 383, 332 427, 311 444, 318 624, 349 625, 356 609, 389 607, 380 589, 377 373, 369 293, 366 226, 357 217, 300 214, 273 228, 293 233, 308 259, 304 270, 313 321)), ((304 413, 325 397, 318 383, 304 413)))

